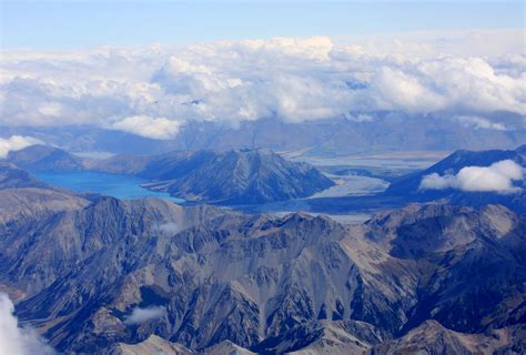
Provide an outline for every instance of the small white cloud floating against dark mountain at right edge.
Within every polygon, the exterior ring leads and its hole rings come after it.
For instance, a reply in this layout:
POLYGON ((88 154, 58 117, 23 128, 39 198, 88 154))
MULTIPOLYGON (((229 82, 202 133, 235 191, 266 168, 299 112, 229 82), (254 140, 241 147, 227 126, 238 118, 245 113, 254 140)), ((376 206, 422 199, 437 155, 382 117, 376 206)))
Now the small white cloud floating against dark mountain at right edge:
POLYGON ((522 189, 514 181, 524 180, 524 170, 512 160, 503 160, 489 166, 465 166, 456 174, 425 175, 421 190, 456 189, 468 192, 514 193, 522 189))

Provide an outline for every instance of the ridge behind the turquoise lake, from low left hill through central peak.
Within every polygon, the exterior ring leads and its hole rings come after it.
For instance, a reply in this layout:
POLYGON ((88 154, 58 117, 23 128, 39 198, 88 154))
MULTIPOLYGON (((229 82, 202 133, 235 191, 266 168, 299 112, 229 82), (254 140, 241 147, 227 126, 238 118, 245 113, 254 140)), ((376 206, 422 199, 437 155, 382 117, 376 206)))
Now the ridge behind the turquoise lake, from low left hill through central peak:
POLYGON ((306 163, 289 162, 270 150, 171 152, 81 159, 60 149, 33 145, 8 160, 30 171, 99 171, 141 176, 145 187, 193 202, 255 204, 306 197, 334 185, 306 163))

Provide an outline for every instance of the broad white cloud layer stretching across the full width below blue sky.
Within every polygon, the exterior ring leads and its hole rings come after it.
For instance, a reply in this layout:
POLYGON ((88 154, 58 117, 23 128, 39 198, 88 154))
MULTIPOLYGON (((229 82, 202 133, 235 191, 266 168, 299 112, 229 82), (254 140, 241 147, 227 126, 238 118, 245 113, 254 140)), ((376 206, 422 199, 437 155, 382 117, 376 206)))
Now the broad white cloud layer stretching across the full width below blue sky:
MULTIPOLYGON (((495 33, 510 43, 524 34, 495 33)), ((91 124, 165 140, 193 120, 235 125, 269 116, 300 122, 373 118, 378 111, 445 112, 471 118, 464 122, 477 128, 499 129, 485 115, 526 114, 526 57, 509 53, 512 45, 483 57, 479 37, 466 38, 466 43, 452 34, 449 42, 391 38, 383 47, 274 38, 4 53, 0 124, 91 124)))

